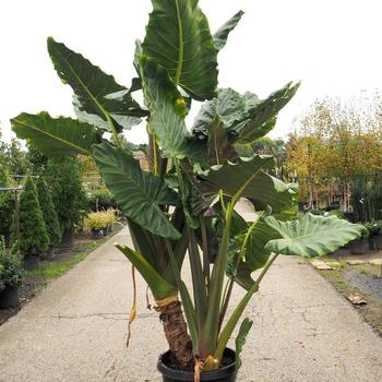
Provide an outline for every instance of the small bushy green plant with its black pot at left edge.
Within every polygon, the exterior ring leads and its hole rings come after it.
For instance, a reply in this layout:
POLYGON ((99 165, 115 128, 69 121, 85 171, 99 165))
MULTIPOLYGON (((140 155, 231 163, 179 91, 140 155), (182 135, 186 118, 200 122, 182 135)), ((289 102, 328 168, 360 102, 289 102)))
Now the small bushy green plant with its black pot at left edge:
POLYGON ((23 276, 22 256, 16 252, 16 246, 7 248, 4 238, 0 236, 0 309, 19 306, 19 287, 23 276))

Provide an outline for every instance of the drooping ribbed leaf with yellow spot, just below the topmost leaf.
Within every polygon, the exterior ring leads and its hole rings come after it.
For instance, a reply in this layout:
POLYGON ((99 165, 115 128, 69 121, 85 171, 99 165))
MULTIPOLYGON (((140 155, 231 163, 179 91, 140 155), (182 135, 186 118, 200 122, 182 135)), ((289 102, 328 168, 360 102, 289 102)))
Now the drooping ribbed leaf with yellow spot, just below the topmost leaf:
POLYGON ((186 103, 164 68, 145 56, 140 57, 139 63, 143 93, 151 112, 150 130, 155 134, 163 156, 181 158, 188 135, 186 103))

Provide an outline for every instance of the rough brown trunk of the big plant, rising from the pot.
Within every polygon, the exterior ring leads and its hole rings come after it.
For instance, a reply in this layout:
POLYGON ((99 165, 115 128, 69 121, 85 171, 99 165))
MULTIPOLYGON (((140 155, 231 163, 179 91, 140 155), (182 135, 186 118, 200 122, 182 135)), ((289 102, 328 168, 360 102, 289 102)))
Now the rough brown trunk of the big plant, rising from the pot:
POLYGON ((164 325, 166 338, 172 355, 180 366, 186 367, 193 360, 191 338, 187 332, 187 323, 180 301, 172 301, 157 308, 164 325))

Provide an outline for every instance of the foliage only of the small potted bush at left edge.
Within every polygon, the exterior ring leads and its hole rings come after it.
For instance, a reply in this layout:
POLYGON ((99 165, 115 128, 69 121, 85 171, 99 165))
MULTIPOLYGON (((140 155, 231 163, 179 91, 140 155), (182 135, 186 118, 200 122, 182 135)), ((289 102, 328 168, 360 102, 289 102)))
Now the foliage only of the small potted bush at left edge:
POLYGON ((3 288, 17 288, 24 278, 22 256, 16 251, 16 244, 7 248, 5 240, 0 236, 0 291, 3 288))

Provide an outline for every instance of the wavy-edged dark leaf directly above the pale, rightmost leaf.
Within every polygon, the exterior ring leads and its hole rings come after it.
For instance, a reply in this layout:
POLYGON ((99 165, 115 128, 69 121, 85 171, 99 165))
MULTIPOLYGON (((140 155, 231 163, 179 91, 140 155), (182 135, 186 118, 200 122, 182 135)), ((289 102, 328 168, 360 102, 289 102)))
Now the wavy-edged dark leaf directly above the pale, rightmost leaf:
POLYGON ((206 181, 202 188, 203 191, 208 191, 208 186, 216 191, 220 189, 230 196, 243 188, 241 196, 255 202, 258 210, 270 205, 277 213, 291 203, 295 191, 263 171, 273 167, 274 158, 270 155, 255 155, 250 160, 238 159, 235 164, 226 162, 220 168, 212 168, 207 176, 202 176, 206 181))

